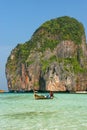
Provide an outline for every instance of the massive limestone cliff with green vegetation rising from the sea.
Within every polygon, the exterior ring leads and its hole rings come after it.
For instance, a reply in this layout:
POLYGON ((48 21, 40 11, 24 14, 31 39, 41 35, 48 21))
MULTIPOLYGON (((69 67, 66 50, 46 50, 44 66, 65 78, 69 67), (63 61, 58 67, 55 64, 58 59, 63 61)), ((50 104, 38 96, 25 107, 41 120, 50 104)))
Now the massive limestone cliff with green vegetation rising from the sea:
POLYGON ((84 27, 70 17, 42 24, 12 50, 6 64, 9 91, 86 91, 84 27))

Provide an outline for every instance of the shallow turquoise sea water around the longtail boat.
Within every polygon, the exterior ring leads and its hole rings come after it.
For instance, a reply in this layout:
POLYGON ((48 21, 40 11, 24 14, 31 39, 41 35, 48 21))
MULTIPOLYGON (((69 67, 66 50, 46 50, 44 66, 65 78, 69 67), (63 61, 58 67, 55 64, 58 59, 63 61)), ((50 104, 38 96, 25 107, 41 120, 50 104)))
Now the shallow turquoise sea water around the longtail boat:
POLYGON ((87 130, 87 94, 0 94, 0 130, 87 130))

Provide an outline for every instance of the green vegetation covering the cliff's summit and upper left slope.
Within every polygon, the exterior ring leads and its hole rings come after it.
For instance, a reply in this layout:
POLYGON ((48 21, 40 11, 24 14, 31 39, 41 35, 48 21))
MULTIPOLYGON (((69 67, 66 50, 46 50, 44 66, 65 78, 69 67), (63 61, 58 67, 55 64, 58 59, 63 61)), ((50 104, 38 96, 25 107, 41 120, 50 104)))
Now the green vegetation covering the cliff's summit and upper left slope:
POLYGON ((41 52, 44 52, 46 48, 53 50, 63 40, 81 44, 83 35, 85 35, 84 27, 76 19, 67 16, 52 19, 42 24, 30 41, 16 47, 16 60, 25 62, 31 50, 35 48, 41 52))

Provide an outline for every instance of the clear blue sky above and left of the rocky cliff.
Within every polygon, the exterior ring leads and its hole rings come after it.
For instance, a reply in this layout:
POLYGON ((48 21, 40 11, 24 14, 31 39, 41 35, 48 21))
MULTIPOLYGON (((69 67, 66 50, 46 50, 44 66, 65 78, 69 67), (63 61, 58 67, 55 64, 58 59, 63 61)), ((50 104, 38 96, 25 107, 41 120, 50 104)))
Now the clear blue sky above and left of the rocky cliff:
POLYGON ((87 37, 87 0, 0 0, 0 89, 7 91, 5 64, 11 50, 42 23, 60 16, 80 21, 87 37))

